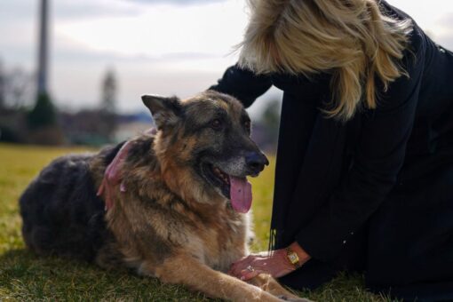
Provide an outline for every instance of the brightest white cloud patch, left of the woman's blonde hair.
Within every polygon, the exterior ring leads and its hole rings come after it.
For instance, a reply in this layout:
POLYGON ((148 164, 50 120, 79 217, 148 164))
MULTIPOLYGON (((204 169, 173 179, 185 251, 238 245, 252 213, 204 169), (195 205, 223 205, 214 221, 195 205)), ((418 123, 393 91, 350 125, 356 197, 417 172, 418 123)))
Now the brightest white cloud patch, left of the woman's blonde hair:
POLYGON ((242 3, 142 8, 137 16, 60 22, 58 36, 96 52, 161 57, 169 53, 226 56, 242 39, 242 3))

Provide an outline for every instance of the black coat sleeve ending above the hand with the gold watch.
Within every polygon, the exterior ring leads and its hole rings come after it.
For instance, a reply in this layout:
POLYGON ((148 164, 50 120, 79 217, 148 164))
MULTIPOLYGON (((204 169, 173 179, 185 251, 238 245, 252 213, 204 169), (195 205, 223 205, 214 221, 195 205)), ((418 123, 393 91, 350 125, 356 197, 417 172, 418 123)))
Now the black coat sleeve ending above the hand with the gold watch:
POLYGON ((328 202, 296 234, 296 242, 313 258, 330 261, 354 231, 370 218, 396 183, 413 127, 424 52, 408 52, 403 67, 409 74, 379 95, 377 109, 363 116, 353 163, 328 202), (422 55, 420 55, 422 54, 422 55))

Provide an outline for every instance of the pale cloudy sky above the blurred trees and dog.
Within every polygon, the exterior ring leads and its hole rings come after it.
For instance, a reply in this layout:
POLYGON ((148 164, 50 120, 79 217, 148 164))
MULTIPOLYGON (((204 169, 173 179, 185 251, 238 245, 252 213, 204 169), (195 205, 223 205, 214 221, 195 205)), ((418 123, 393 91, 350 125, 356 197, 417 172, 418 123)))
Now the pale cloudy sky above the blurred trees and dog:
MULTIPOLYGON (((388 0, 434 41, 453 50, 452 0, 388 0)), ((187 98, 216 83, 237 60, 248 15, 244 0, 50 0, 50 91, 59 107, 98 107, 108 69, 118 109, 143 106, 144 93, 187 98)), ((38 0, 0 1, 0 60, 36 69, 38 0)), ((256 102, 279 98, 276 89, 256 102)))

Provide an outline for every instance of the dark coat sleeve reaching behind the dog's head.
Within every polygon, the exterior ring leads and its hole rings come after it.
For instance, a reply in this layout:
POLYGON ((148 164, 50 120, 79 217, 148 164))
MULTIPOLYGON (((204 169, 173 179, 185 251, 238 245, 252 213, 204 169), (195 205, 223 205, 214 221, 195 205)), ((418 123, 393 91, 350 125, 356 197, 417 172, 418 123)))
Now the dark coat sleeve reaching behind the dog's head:
POLYGON ((209 89, 232 95, 241 100, 244 107, 249 107, 271 86, 272 81, 269 76, 255 75, 252 71, 239 68, 236 64, 227 68, 219 82, 209 89))

